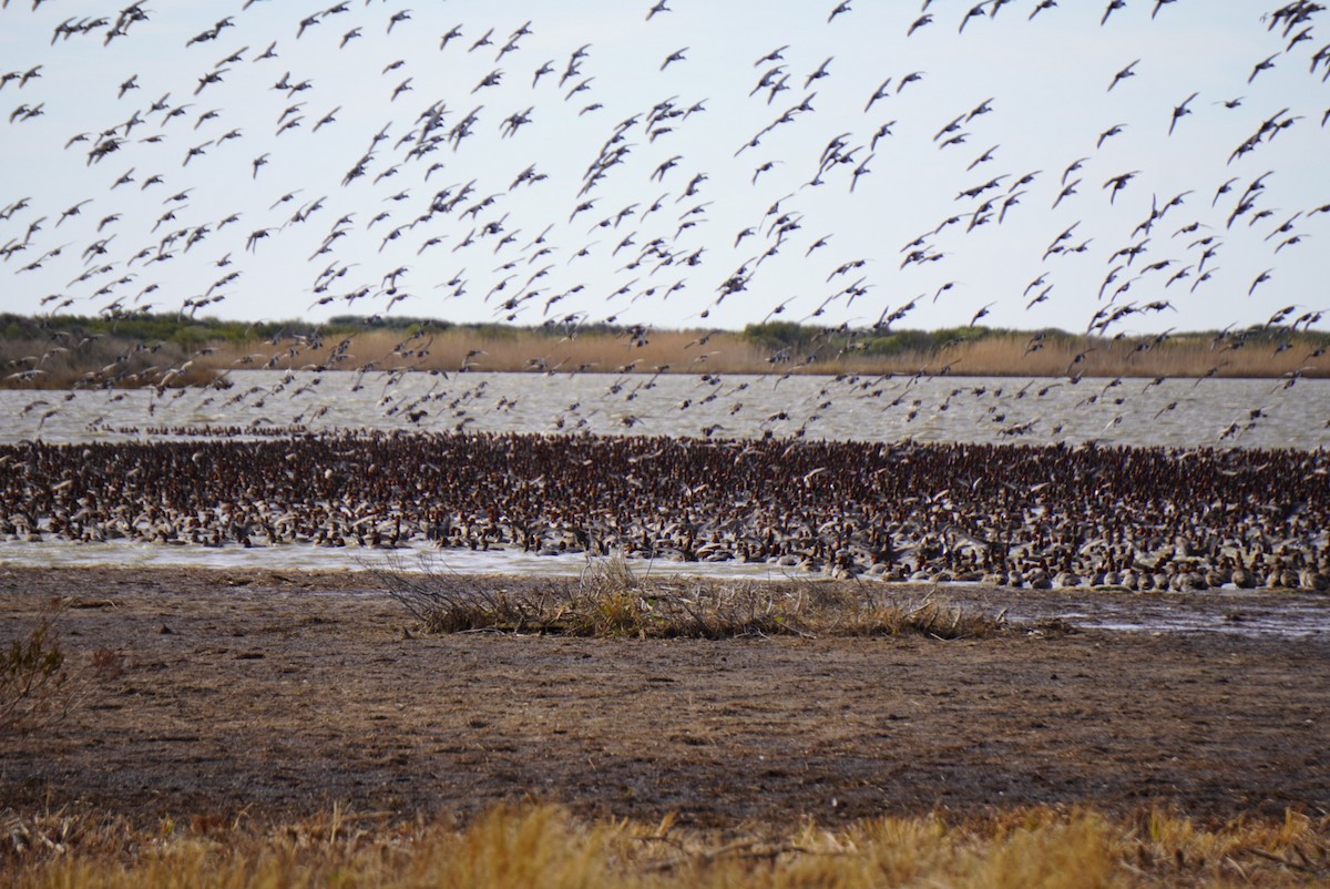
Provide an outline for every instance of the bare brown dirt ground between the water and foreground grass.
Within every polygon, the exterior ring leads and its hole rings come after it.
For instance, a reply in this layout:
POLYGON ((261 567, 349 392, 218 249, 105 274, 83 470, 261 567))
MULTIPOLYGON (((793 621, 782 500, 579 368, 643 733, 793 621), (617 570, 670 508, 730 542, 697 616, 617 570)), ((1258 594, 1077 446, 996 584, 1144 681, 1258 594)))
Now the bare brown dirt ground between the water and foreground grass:
POLYGON ((724 826, 1330 808, 1323 635, 427 636, 354 572, 0 568, 0 643, 53 595, 73 603, 65 648, 102 667, 57 727, 0 739, 19 809, 464 817, 536 799, 724 826))

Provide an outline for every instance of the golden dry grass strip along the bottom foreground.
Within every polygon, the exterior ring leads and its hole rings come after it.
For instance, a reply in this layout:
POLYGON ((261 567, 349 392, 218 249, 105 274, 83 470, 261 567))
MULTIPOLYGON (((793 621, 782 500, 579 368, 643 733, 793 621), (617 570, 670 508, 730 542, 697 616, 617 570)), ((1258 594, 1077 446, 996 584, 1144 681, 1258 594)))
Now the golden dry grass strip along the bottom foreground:
POLYGON ((207 886, 1305 886, 1330 880, 1330 818, 1214 828, 1144 812, 1048 808, 879 818, 793 836, 579 821, 548 805, 458 828, 374 813, 263 825, 0 813, 13 889, 207 886))

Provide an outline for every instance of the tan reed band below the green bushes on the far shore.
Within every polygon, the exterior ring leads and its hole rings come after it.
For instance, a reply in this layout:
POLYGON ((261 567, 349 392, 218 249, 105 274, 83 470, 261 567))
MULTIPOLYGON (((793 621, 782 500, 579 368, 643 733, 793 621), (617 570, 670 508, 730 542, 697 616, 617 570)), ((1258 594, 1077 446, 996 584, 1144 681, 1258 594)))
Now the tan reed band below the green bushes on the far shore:
POLYGON ((1031 350, 1027 333, 990 333, 982 338, 895 354, 846 351, 826 338, 806 350, 762 347, 739 333, 666 330, 628 334, 584 333, 560 337, 544 329, 450 327, 423 335, 388 331, 330 338, 319 349, 299 343, 219 346, 203 363, 227 367, 299 370, 411 369, 454 373, 717 373, 717 374, 951 374, 999 377, 1278 377, 1298 371, 1330 373, 1330 355, 1311 357, 1318 342, 1295 337, 1275 351, 1274 342, 1252 341, 1240 349, 1213 343, 1209 335, 1121 341, 1059 334, 1031 350), (698 341, 706 338, 705 343, 698 341), (335 341, 334 341, 335 339, 335 341), (343 339, 347 339, 343 343, 343 339), (343 346, 340 355, 338 346, 343 346), (1077 359, 1077 357, 1080 358, 1077 359), (249 358, 246 363, 246 357, 249 358))

